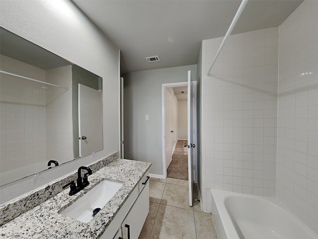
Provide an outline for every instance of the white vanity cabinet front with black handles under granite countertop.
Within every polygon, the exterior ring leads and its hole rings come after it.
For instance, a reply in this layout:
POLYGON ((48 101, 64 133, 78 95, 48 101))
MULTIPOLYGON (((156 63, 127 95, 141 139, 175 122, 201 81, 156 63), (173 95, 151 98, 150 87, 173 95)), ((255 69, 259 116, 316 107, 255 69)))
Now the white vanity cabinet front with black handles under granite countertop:
POLYGON ((147 171, 99 239, 138 239, 149 213, 148 175, 147 171))

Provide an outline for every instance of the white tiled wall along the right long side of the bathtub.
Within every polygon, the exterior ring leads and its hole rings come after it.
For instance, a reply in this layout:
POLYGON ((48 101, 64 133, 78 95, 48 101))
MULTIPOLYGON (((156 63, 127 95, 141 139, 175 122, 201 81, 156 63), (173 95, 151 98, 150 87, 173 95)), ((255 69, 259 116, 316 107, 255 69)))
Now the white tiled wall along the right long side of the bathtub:
POLYGON ((279 27, 277 198, 318 233, 318 1, 279 27))

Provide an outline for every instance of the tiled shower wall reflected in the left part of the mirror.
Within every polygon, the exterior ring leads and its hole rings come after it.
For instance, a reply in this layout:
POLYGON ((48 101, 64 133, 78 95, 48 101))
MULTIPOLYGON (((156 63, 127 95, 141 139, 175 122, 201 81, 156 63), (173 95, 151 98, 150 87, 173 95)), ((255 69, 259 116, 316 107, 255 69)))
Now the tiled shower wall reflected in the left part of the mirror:
MULTIPOLYGON (((1 55, 1 70, 45 81, 45 71, 1 55)), ((1 73, 1 185, 43 170, 45 89, 1 73)), ((45 165, 46 166, 46 165, 45 165)))

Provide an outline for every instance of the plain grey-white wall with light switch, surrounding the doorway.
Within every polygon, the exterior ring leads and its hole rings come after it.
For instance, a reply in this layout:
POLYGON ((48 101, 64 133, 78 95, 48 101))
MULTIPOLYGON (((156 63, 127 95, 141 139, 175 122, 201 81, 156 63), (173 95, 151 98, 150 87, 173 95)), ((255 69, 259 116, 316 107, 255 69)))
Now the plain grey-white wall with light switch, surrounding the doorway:
POLYGON ((196 65, 129 73, 124 76, 125 158, 151 162, 150 173, 163 175, 161 84, 196 78, 196 65), (145 120, 149 115, 149 120, 145 120))

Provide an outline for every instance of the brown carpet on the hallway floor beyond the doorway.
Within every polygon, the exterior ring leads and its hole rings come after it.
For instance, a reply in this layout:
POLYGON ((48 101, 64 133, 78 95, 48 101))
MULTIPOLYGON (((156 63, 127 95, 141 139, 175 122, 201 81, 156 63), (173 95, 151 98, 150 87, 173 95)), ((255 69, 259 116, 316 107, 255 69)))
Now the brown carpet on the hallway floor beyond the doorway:
POLYGON ((188 148, 183 146, 187 142, 188 140, 178 139, 167 169, 167 177, 188 180, 188 148))

